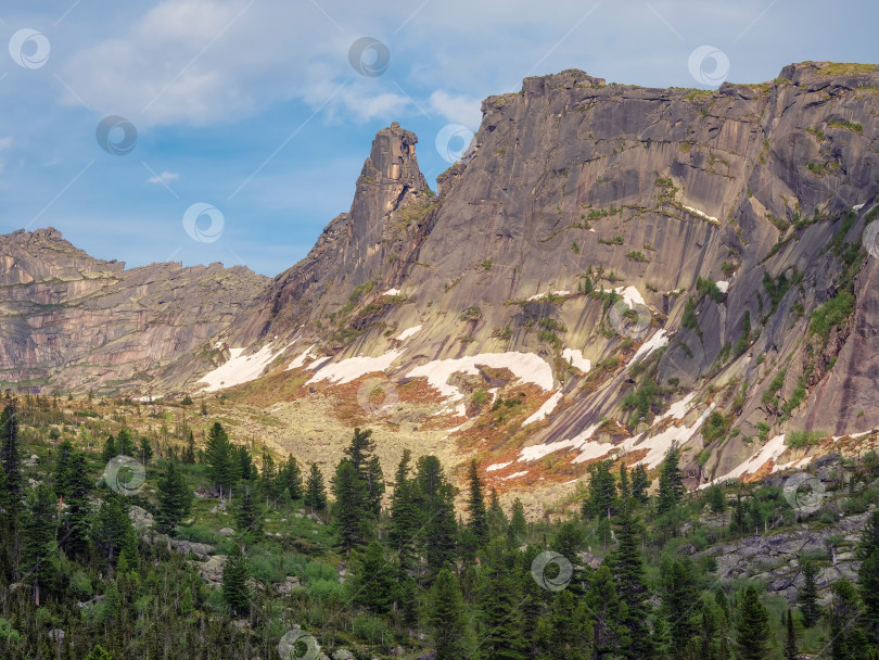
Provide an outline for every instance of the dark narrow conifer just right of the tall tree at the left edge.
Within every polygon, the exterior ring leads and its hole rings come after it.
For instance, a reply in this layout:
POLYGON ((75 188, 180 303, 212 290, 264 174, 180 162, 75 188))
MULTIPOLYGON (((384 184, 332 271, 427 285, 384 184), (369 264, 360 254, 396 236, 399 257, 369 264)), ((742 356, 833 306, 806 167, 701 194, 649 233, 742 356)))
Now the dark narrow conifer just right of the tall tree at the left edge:
POLYGON ((55 513, 58 504, 52 490, 41 483, 27 500, 24 521, 23 568, 25 582, 34 587, 34 601, 40 605, 40 587, 51 588, 56 576, 55 513))

